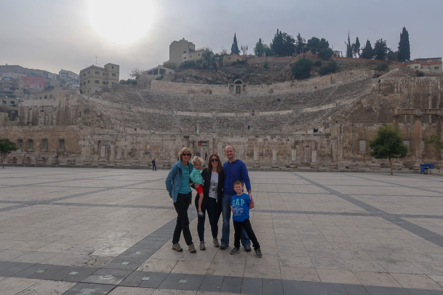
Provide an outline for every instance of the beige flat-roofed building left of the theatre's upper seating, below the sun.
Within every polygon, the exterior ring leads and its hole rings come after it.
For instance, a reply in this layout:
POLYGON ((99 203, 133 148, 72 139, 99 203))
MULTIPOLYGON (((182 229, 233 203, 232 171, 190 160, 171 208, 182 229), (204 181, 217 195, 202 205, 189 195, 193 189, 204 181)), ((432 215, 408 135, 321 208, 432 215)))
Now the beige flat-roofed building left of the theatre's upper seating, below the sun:
POLYGON ((91 65, 80 71, 80 90, 89 95, 102 88, 111 87, 119 83, 120 65, 106 64, 103 68, 91 65))

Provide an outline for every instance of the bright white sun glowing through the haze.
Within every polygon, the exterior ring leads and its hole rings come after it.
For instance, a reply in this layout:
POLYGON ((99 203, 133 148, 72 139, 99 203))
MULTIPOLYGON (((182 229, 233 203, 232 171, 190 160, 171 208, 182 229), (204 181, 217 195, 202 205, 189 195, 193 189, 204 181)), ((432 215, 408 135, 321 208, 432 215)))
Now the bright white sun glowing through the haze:
POLYGON ((89 22, 103 38, 128 44, 142 38, 151 27, 155 7, 149 0, 89 1, 89 22))

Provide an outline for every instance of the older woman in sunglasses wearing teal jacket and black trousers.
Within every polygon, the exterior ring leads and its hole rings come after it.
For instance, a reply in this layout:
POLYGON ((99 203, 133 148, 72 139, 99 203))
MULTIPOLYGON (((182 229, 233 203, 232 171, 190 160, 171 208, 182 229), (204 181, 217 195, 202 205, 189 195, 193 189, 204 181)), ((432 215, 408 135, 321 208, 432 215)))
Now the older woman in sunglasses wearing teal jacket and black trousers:
POLYGON ((186 245, 189 247, 190 253, 197 250, 194 247, 191 232, 189 230, 188 208, 192 201, 192 191, 189 186, 189 175, 194 166, 189 162, 192 152, 189 148, 184 147, 180 150, 179 161, 175 163, 166 177, 166 190, 174 201, 174 208, 177 212, 177 222, 172 236, 172 249, 183 251, 180 247, 179 240, 183 231, 186 245))

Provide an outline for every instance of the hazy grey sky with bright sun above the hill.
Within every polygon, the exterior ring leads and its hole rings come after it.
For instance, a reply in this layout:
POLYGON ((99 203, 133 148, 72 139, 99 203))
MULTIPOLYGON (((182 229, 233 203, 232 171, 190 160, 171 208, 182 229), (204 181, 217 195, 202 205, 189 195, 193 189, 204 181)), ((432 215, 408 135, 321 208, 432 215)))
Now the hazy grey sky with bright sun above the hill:
POLYGON ((441 57, 442 11, 442 0, 0 0, 0 65, 79 73, 97 56, 101 66, 120 65, 126 79, 133 67, 166 61, 173 40, 184 37, 217 53, 230 51, 236 32, 238 46, 252 51, 277 28, 306 40, 326 38, 345 52, 348 31, 351 42, 383 38, 395 51, 405 26, 411 58, 441 57))

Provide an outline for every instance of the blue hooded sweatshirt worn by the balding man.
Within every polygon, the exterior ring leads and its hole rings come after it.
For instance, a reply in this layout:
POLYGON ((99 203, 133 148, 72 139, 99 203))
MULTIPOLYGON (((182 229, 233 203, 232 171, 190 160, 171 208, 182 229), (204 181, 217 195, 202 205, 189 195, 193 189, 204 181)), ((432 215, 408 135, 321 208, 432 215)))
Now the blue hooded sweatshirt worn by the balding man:
POLYGON ((233 184, 235 180, 240 180, 245 183, 246 190, 251 189, 251 181, 249 180, 248 169, 246 169, 246 164, 237 159, 232 163, 226 161, 223 164, 223 170, 225 171, 225 181, 223 182, 223 194, 224 195, 236 195, 234 191, 233 184))

